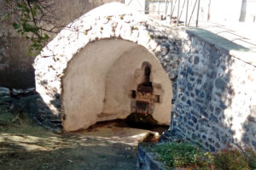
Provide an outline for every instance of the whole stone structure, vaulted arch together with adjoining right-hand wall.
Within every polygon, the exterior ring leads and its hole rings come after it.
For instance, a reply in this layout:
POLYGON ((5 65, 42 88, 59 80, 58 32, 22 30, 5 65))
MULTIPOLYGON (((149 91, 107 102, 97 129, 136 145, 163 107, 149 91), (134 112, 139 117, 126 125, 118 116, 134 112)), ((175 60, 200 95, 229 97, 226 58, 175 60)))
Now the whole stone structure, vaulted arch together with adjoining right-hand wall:
POLYGON ((207 150, 226 144, 255 150, 255 59, 254 54, 241 53, 242 49, 247 50, 209 32, 176 30, 121 3, 109 3, 68 25, 38 55, 36 86, 41 99, 36 117, 46 126, 64 126, 66 131, 123 118, 130 109, 166 123, 171 113, 162 110, 163 104, 170 108, 167 97, 173 94, 171 129, 175 133, 207 150), (160 65, 172 81, 172 92, 160 65), (97 83, 101 81, 105 83, 97 83), (137 100, 144 99, 143 91, 146 102, 137 100), (99 103, 89 115, 81 106, 87 97, 91 103, 86 107, 99 103), (73 116, 73 109, 81 110, 79 116, 73 116), (165 112, 165 120, 161 114, 154 115, 158 111, 165 112), (86 117, 89 123, 83 122, 86 117))

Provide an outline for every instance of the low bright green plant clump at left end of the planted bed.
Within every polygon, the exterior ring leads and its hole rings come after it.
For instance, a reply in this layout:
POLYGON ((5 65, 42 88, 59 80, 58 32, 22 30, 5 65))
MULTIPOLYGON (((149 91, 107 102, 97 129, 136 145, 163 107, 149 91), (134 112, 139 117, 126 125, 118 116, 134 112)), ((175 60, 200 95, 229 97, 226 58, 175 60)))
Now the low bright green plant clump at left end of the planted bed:
POLYGON ((187 142, 160 144, 154 150, 159 153, 160 160, 171 167, 192 167, 193 169, 212 167, 212 154, 204 153, 187 142))

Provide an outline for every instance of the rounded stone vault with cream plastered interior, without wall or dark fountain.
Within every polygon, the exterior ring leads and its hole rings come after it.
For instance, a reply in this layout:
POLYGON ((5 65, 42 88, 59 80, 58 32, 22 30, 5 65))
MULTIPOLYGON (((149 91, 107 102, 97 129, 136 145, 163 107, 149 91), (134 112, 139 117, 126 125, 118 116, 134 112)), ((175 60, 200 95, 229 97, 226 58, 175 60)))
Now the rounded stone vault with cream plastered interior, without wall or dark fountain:
POLYGON ((176 37, 177 31, 169 26, 159 26, 121 3, 108 3, 84 14, 35 59, 36 88, 42 98, 38 120, 74 131, 97 121, 125 118, 132 111, 129 93, 142 83, 147 61, 152 67, 152 98, 160 98, 152 116, 169 124, 170 79, 177 77, 180 50, 176 37), (172 68, 170 60, 165 65, 170 56, 172 68))

